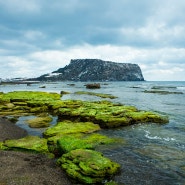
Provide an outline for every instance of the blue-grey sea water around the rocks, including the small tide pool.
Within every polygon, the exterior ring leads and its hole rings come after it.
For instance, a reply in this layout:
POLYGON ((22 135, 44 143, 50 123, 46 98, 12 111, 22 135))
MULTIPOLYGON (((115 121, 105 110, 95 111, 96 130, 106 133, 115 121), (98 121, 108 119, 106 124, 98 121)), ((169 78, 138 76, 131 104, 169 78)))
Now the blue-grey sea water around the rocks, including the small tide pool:
MULTIPOLYGON (((120 138, 124 142, 98 150, 121 164, 120 173, 114 177, 119 185, 185 185, 185 82, 98 83, 101 85, 100 89, 86 89, 87 82, 0 85, 0 92, 66 91, 70 94, 64 95, 62 100, 104 100, 100 97, 75 94, 77 91, 92 91, 118 97, 106 99, 108 101, 168 116, 167 124, 141 123, 116 129, 102 129, 102 134, 120 138)), ((21 117, 16 124, 27 129, 29 134, 41 135, 43 130, 29 128, 25 124, 26 119, 28 118, 21 117)), ((54 117, 52 124, 56 122, 57 118, 54 117)))

